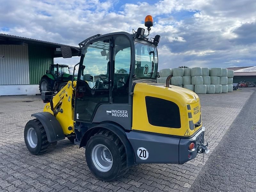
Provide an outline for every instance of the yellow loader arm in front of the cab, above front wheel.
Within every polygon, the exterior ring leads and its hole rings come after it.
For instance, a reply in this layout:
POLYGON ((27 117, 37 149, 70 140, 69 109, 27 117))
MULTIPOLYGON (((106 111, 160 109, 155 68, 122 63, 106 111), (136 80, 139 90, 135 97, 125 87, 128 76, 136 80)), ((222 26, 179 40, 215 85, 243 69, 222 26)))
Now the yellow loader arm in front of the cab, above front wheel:
MULTIPOLYGON (((74 133, 74 89, 71 86, 71 81, 65 85, 60 92, 58 92, 52 99, 53 109, 57 112, 55 115, 60 122, 62 130, 65 135, 74 133)), ((74 88, 76 87, 76 81, 73 81, 74 88)), ((44 112, 49 112, 52 115, 50 103, 47 103, 44 107, 44 112)))

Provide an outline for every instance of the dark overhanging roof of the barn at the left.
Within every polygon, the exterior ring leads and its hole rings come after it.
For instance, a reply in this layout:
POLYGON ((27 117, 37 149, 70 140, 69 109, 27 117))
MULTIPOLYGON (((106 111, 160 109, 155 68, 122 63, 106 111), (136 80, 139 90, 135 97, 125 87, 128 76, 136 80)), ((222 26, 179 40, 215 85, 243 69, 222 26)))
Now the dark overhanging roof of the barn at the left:
MULTIPOLYGON (((37 44, 37 45, 42 45, 42 46, 51 47, 51 48, 60 48, 60 46, 65 45, 65 44, 59 44, 59 43, 52 43, 49 41, 31 39, 27 37, 8 35, 3 33, 0 33, 0 44, 18 44, 18 45, 37 44)), ((78 51, 76 49, 79 49, 79 47, 75 47, 75 46, 70 46, 70 47, 72 50, 72 55, 77 56, 78 51)), ((60 52, 55 51, 54 57, 62 57, 62 56, 60 52)))

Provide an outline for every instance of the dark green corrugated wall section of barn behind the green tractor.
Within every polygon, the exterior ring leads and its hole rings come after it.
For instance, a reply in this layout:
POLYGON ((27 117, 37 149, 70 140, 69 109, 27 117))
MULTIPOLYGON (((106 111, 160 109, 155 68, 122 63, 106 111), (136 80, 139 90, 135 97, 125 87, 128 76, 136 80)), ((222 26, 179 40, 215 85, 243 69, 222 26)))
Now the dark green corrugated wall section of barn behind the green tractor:
POLYGON ((39 84, 41 77, 53 64, 53 49, 40 45, 28 45, 29 84, 39 84))

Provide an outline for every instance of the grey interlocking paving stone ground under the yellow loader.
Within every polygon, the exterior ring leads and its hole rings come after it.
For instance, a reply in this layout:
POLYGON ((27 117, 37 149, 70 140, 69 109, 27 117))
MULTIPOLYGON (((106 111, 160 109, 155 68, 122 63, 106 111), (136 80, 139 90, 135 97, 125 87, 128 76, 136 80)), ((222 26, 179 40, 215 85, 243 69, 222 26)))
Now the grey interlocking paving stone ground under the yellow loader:
POLYGON ((32 113, 43 110, 40 96, 0 97, 0 192, 34 191, 182 191, 193 184, 212 151, 251 96, 243 89, 225 94, 199 95, 205 139, 210 153, 183 165, 141 164, 132 167, 123 178, 113 182, 96 179, 87 167, 84 148, 68 139, 41 156, 31 155, 23 131, 32 113), (33 102, 22 102, 33 101, 33 102))

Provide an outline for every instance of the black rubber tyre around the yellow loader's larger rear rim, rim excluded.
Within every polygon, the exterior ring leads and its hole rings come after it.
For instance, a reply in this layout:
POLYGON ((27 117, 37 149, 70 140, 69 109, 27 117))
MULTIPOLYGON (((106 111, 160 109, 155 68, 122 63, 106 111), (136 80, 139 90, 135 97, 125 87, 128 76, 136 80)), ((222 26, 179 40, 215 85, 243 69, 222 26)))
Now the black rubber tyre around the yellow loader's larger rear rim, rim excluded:
POLYGON ((116 180, 129 169, 126 166, 126 152, 123 143, 113 132, 108 130, 100 130, 90 138, 86 145, 85 158, 91 172, 100 180, 116 180), (100 171, 92 160, 93 148, 99 144, 106 146, 112 156, 112 167, 107 172, 100 171))

